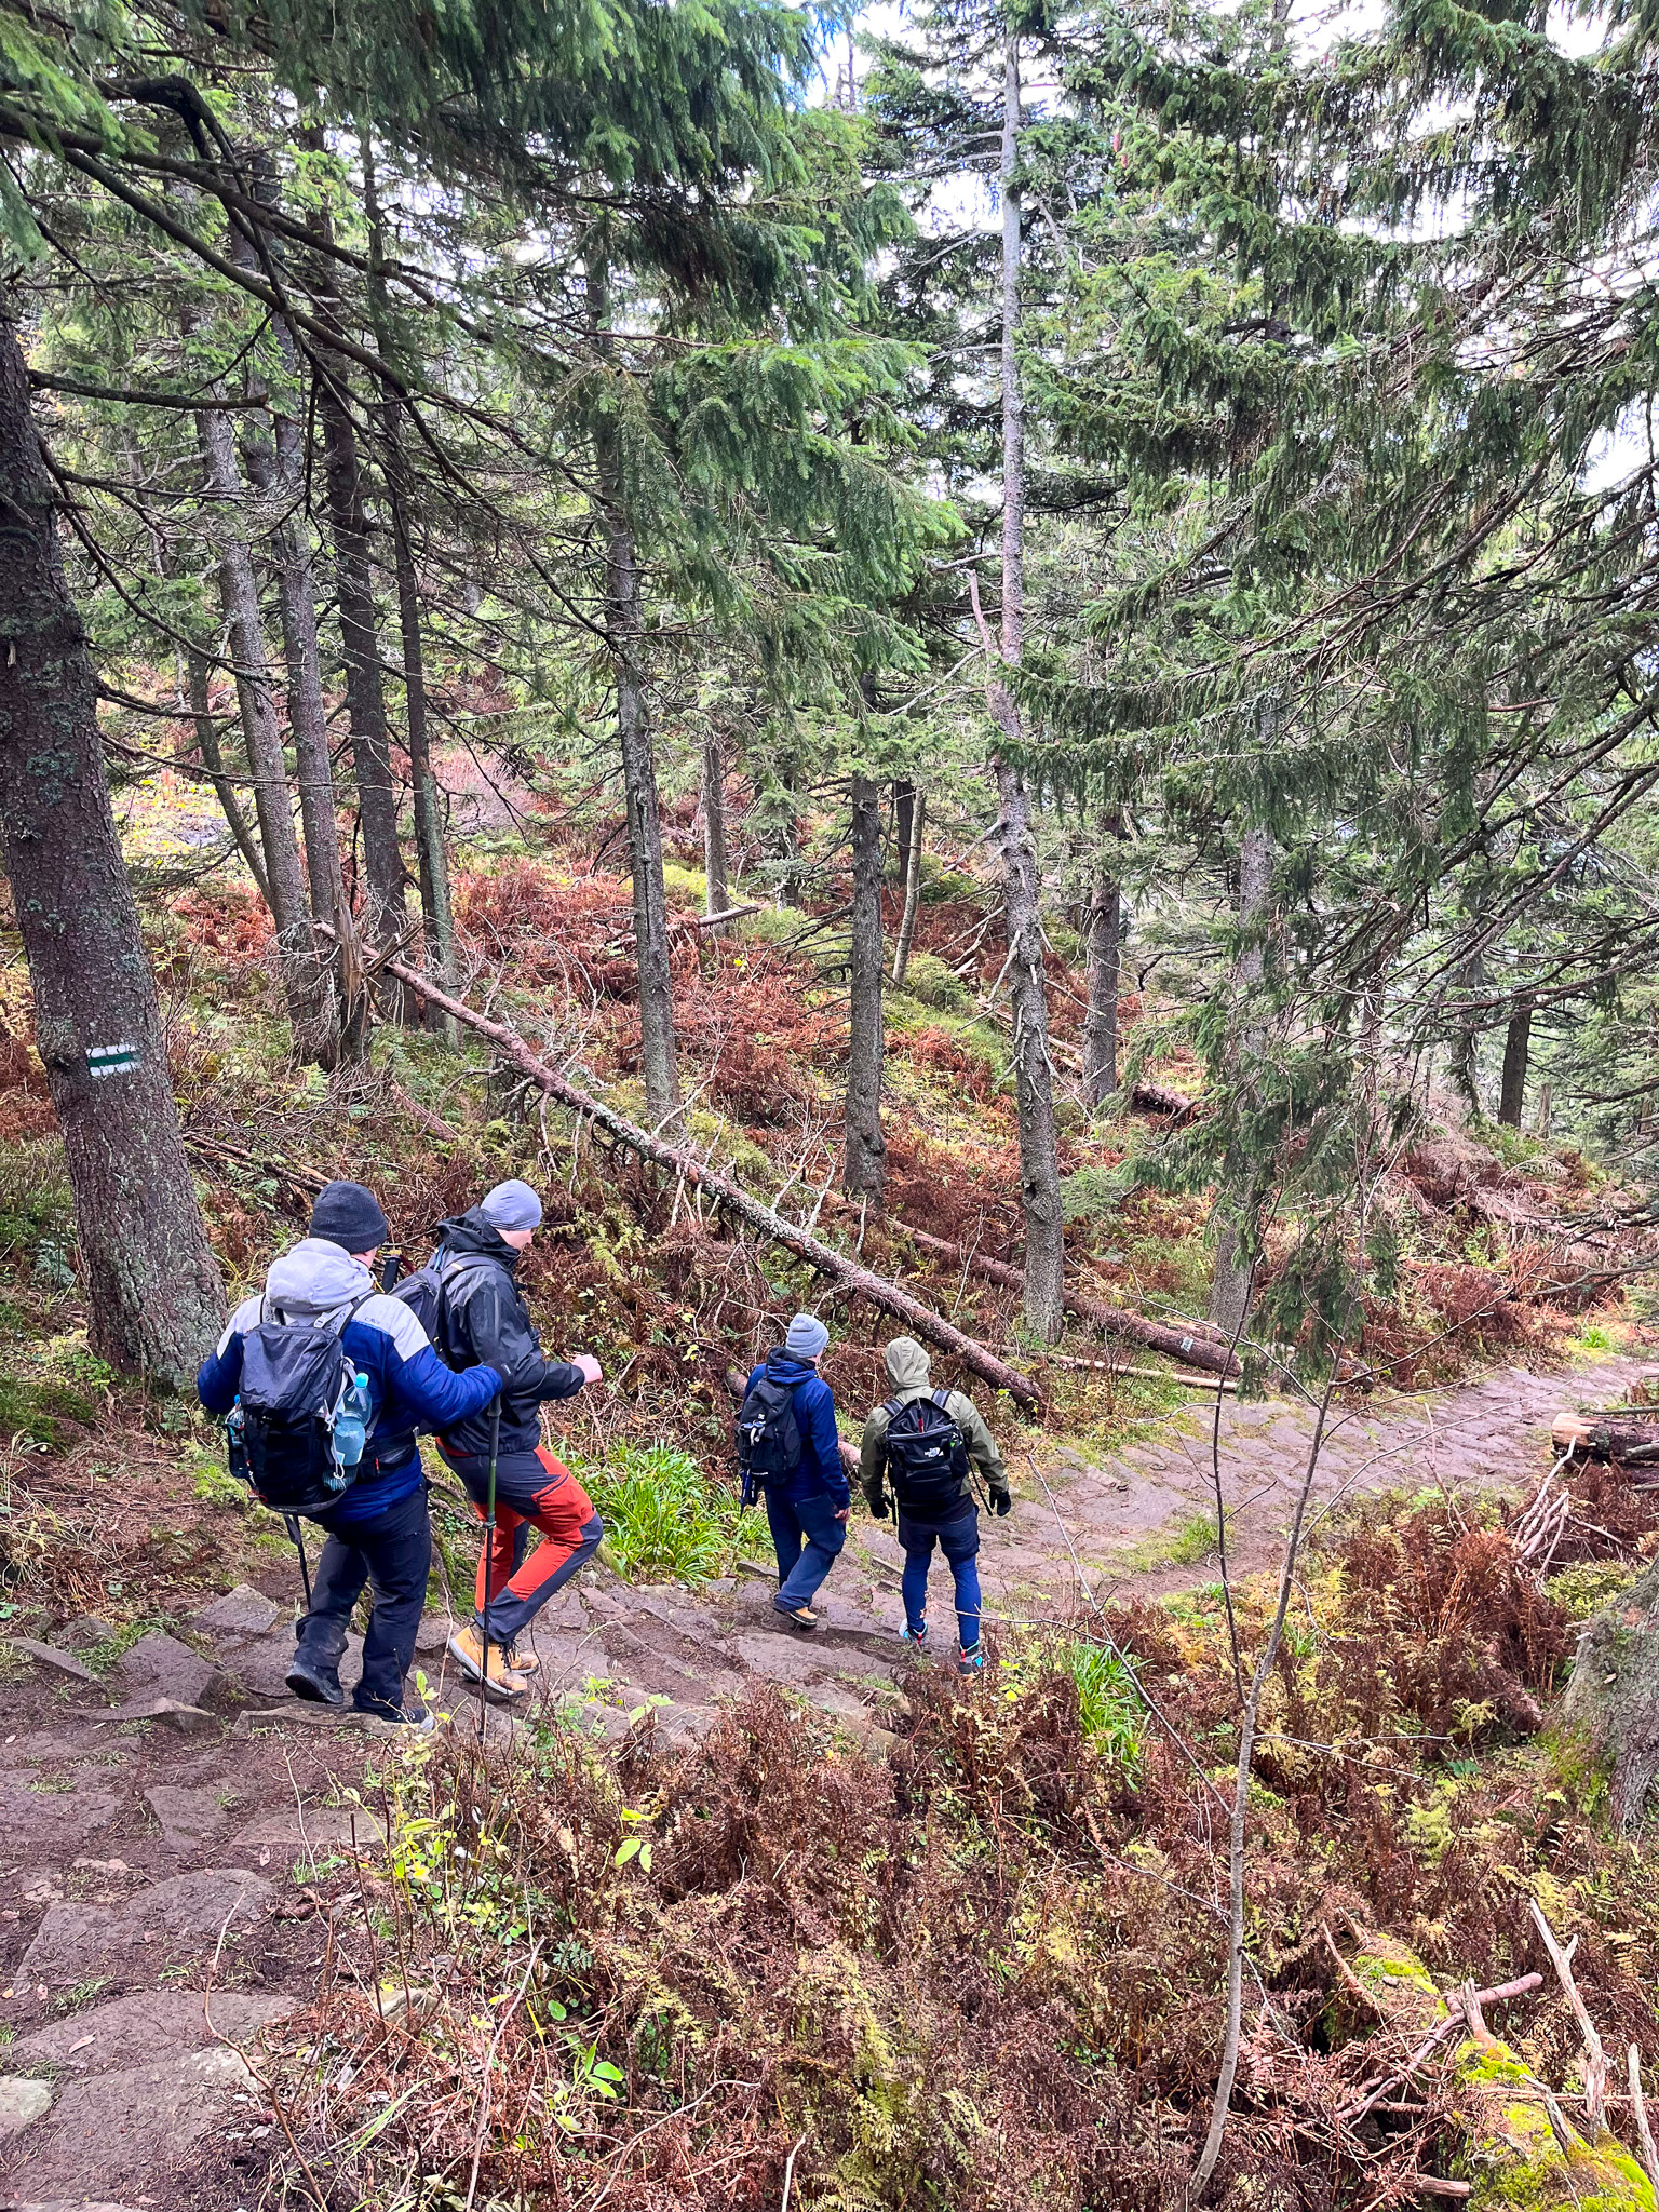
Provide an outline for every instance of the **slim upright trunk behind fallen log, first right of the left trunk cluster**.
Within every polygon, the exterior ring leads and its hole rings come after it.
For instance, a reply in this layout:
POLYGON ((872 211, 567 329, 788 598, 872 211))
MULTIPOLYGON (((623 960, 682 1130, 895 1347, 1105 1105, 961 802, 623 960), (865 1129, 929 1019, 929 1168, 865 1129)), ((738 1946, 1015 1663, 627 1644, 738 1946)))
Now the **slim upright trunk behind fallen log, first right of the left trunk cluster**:
MULTIPOLYGON (((608 285, 602 261, 588 268, 588 312, 595 345, 608 354, 608 285)), ((679 1119, 679 1064, 675 1053, 675 982, 668 960, 668 894, 661 876, 661 810, 657 757, 644 668, 644 586, 628 522, 622 445, 615 416, 595 414, 593 462, 599 526, 604 531, 604 633, 617 684, 617 739, 622 787, 628 805, 628 863, 633 869, 633 927, 639 956, 639 1068, 646 1113, 657 1128, 679 1119)))

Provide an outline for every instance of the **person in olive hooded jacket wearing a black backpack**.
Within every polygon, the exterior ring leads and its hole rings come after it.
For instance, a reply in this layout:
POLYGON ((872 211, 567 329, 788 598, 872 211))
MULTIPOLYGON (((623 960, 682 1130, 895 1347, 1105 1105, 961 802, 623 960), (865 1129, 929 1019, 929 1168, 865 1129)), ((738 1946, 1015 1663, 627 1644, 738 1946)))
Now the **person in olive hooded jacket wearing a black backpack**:
POLYGON ((876 1520, 887 1520, 885 1484, 894 1491, 898 1544, 905 1553, 905 1641, 916 1650, 927 1648, 927 1571, 938 1544, 956 1579, 956 1668, 960 1674, 975 1674, 984 1666, 984 1652, 980 1515, 969 1489, 969 1462, 984 1475, 998 1515, 1013 1504, 1009 1471, 973 1400, 960 1389, 933 1389, 927 1352, 914 1336, 896 1336, 887 1345, 887 1380, 894 1396, 865 1422, 858 1480, 876 1520))

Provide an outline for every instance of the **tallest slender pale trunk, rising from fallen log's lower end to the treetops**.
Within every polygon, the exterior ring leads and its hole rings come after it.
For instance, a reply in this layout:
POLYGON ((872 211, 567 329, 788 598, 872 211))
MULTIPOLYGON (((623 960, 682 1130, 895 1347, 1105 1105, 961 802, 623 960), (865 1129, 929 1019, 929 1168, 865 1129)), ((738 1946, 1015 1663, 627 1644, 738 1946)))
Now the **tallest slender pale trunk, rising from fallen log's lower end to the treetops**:
MULTIPOLYGON (((1009 40, 1002 77, 1002 659, 1024 653, 1024 400, 1020 394, 1020 42, 1009 40)), ((1006 684, 991 688, 1006 743, 1020 739, 1020 708, 1006 684)), ((1020 1115, 1020 1201, 1026 1223, 1024 1321, 1051 1345, 1064 1323, 1066 1245, 1060 1212, 1055 1075, 1048 1060, 1048 989, 1042 973, 1042 880, 1031 841, 1031 801, 1020 770, 998 752, 998 834, 1006 872, 1004 929, 1013 1006, 1013 1088, 1020 1115)))

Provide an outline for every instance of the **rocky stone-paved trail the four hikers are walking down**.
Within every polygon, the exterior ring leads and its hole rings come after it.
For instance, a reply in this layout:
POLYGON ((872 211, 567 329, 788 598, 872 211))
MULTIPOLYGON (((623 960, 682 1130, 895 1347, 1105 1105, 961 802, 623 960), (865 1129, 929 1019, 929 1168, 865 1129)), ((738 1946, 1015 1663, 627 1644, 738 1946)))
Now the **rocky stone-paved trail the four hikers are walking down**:
MULTIPOLYGON (((1316 1513, 1387 1489, 1520 1489, 1551 1416, 1608 1398, 1641 1363, 1579 1376, 1504 1369, 1462 1389, 1365 1400, 1336 1413, 1316 1513)), ((987 1621, 1214 1579, 1212 1402, 1091 1462, 1013 1464, 1015 1511, 980 1555, 987 1621)), ((1221 1489, 1241 1571, 1265 1564, 1303 1478, 1314 1416, 1221 1402, 1221 1489)), ((770 1606, 757 1571, 706 1593, 591 1571, 538 1621, 538 1699, 595 1739, 641 1712, 670 1736, 719 1701, 779 1681, 860 1732, 883 1725, 898 1644, 898 1546, 854 1517, 814 1637, 770 1606)), ((303 2008, 330 1942, 325 1878, 383 1840, 372 1774, 385 1747, 283 1690, 292 1593, 237 1588, 106 1672, 97 1621, 18 1639, 0 1723, 0 2212, 232 2212, 252 2205, 274 2115, 259 2031, 303 2008), (22 1666, 27 1661, 27 1668, 22 1666), (246 2190, 246 2194, 241 2194, 246 2190)), ((936 1568, 933 1606, 947 1597, 936 1568)), ((476 1725, 429 1617, 420 1666, 434 1705, 476 1725)), ((352 1677, 352 1657, 343 1668, 352 1677)), ((511 1734, 502 1714, 489 1725, 511 1734)))

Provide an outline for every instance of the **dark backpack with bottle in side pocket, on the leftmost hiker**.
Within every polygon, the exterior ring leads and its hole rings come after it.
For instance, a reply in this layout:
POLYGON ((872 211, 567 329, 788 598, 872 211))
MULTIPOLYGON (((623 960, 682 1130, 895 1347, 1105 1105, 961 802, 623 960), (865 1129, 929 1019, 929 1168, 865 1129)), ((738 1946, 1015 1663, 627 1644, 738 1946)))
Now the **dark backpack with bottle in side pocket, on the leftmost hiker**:
MULTIPOLYGON (((374 1292, 363 1294, 374 1296, 374 1292)), ((241 1391, 226 1420, 230 1473, 272 1513, 321 1513, 345 1495, 358 1471, 334 1449, 334 1422, 356 1369, 341 1336, 363 1298, 323 1325, 265 1318, 241 1340, 241 1391)))

